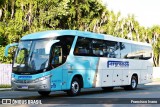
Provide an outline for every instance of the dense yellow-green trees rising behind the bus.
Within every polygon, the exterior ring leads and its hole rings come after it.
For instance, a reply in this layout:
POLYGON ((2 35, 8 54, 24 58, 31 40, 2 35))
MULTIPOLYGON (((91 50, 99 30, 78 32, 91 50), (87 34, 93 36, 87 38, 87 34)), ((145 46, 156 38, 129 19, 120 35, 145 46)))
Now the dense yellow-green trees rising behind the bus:
POLYGON ((115 35, 148 42, 154 47, 155 66, 160 65, 160 26, 140 26, 134 15, 121 17, 102 5, 101 0, 0 0, 0 62, 11 63, 4 57, 4 47, 19 42, 26 34, 56 29, 76 29, 115 35), (153 42, 154 41, 154 42, 153 42))

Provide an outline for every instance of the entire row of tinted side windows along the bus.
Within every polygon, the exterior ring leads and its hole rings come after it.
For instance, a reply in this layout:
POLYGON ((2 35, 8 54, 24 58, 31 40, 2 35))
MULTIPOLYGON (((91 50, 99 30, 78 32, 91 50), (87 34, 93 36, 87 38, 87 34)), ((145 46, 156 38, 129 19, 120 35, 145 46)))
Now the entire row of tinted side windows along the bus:
POLYGON ((107 58, 148 59, 151 48, 136 44, 78 37, 74 55, 107 58))

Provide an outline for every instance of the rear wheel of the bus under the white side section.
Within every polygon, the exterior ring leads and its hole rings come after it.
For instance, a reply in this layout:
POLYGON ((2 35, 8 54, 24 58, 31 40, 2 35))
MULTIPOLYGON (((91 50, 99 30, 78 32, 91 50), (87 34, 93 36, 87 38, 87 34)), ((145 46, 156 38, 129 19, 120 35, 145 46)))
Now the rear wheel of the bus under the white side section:
POLYGON ((136 76, 132 76, 131 83, 128 86, 124 86, 125 90, 136 90, 138 85, 138 79, 136 76))

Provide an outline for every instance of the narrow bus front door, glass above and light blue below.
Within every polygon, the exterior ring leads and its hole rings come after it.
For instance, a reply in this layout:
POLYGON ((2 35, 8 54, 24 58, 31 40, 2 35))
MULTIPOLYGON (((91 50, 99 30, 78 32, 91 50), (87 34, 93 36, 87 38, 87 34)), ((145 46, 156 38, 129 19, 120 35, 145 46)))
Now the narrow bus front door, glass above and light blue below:
POLYGON ((62 45, 58 42, 52 46, 50 57, 50 67, 52 69, 51 90, 53 91, 62 89, 63 63, 62 45))

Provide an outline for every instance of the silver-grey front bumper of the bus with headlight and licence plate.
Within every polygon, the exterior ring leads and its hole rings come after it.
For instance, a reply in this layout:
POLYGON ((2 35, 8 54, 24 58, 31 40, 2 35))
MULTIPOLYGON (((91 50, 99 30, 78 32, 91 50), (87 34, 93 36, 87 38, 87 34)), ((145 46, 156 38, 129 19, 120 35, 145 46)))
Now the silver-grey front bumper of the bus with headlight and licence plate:
POLYGON ((50 91, 51 90, 51 77, 46 76, 43 79, 36 80, 12 80, 12 90, 15 91, 50 91))

